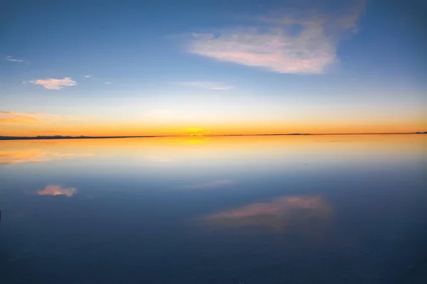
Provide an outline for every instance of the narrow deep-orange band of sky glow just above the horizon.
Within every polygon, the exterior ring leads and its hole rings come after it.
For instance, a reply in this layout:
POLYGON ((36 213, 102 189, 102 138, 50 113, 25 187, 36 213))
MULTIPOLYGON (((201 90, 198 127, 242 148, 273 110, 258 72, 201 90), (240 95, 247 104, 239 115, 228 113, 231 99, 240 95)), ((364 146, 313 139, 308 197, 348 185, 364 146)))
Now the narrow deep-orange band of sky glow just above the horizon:
POLYGON ((427 131, 426 121, 418 124, 236 124, 191 129, 181 126, 137 126, 128 124, 78 124, 45 126, 43 124, 0 125, 0 136, 211 136, 279 133, 411 133, 427 131), (48 130, 52 129, 52 130, 48 130), (206 129, 209 129, 207 131, 206 129))

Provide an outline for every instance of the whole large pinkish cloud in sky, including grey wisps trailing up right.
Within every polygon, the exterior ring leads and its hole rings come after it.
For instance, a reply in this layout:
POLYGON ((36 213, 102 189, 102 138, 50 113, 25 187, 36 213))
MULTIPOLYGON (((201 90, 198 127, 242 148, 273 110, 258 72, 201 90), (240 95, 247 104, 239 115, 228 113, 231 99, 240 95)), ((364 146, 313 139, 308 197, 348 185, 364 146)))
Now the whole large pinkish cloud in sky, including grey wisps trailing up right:
POLYGON ((193 33, 188 52, 279 73, 322 74, 337 62, 337 44, 357 31, 362 5, 340 15, 283 13, 252 18, 253 25, 193 33))

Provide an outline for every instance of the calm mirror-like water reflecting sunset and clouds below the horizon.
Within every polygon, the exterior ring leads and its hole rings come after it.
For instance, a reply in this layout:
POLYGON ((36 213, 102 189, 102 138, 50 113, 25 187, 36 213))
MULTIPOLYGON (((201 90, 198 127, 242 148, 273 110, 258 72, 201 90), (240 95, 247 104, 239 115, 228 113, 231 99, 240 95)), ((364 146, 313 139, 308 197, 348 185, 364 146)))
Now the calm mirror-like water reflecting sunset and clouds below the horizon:
POLYGON ((426 154, 424 135, 0 141, 0 283, 407 283, 426 154))

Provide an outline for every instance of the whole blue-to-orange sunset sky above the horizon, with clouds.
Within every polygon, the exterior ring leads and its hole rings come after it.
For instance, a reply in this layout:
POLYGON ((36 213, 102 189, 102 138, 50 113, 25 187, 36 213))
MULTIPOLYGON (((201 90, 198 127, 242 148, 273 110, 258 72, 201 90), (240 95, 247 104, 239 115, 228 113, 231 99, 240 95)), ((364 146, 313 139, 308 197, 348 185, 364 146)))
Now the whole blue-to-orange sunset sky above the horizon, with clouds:
POLYGON ((5 1, 0 136, 427 131, 425 1, 5 1))

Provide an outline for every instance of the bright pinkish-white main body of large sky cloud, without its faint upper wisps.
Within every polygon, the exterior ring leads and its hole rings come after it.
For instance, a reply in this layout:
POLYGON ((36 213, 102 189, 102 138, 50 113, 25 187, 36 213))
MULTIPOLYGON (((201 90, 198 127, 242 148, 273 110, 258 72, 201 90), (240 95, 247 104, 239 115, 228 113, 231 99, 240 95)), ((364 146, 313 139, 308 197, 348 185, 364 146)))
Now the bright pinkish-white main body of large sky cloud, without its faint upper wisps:
POLYGON ((213 34, 194 40, 191 53, 280 73, 322 73, 336 60, 335 47, 320 35, 290 38, 279 31, 213 34))

